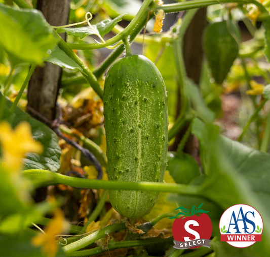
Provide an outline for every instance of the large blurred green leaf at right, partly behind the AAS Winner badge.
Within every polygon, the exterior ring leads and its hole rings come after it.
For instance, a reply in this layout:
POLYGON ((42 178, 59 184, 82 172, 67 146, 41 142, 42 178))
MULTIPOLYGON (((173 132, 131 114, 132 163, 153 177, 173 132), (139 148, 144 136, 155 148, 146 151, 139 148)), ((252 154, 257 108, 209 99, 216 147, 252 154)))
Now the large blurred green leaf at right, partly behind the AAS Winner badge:
POLYGON ((264 223, 263 237, 249 250, 253 256, 269 255, 270 155, 221 136, 217 126, 199 119, 194 121, 192 133, 199 139, 206 174, 199 194, 224 210, 235 204, 256 208, 264 223))

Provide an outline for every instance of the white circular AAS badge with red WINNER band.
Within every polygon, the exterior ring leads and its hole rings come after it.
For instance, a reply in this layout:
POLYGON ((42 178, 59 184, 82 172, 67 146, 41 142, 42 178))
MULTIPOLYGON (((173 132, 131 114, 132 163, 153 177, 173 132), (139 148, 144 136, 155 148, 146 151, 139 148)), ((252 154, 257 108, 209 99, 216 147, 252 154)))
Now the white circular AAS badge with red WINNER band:
POLYGON ((252 206, 237 204, 229 207, 219 221, 220 241, 235 247, 248 247, 261 241, 263 221, 252 206))

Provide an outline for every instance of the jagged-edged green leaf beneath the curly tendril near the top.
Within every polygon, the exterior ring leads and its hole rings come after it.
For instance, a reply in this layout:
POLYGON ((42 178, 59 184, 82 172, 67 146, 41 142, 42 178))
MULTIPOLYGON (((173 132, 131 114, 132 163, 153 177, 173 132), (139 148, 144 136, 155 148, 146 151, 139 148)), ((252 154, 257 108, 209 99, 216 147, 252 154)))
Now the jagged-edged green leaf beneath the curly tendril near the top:
POLYGON ((78 27, 78 28, 73 28, 73 27, 65 27, 65 28, 57 28, 56 32, 57 33, 63 33, 66 32, 67 35, 70 36, 76 36, 80 37, 81 39, 90 35, 100 35, 102 38, 104 35, 109 33, 113 27, 122 20, 122 17, 125 16, 126 14, 122 14, 118 16, 117 18, 110 20, 102 20, 101 22, 92 25, 94 30, 90 26, 86 27, 78 27))

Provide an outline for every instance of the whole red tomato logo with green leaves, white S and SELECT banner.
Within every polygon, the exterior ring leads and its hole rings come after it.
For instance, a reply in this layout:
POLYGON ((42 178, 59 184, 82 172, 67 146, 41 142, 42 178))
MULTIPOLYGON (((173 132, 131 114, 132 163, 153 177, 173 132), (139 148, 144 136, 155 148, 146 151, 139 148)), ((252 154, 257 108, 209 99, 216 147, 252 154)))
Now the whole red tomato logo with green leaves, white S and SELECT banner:
MULTIPOLYGON (((173 222, 173 237, 174 237, 174 248, 186 249, 186 248, 197 248, 200 246, 206 246, 210 248, 211 234, 212 234, 212 223, 209 216, 206 214, 208 211, 200 209, 203 203, 196 208, 192 206, 191 213, 190 209, 179 207, 175 210, 180 209, 175 217, 178 215, 185 215, 177 218, 173 222), (199 214, 199 216, 197 215, 199 214)), ((170 217, 175 218, 175 217, 170 217)))

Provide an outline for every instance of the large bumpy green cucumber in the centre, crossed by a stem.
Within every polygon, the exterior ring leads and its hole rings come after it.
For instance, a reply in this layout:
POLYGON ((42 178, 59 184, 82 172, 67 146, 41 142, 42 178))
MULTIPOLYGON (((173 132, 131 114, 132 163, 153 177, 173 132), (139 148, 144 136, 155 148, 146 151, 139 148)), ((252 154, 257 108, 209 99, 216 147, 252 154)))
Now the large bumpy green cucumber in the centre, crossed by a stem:
MULTIPOLYGON (((115 61, 104 84, 109 180, 162 182, 167 166, 168 110, 163 78, 142 55, 115 61)), ((157 192, 111 190, 115 210, 129 218, 150 212, 157 192)))

